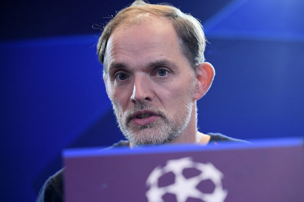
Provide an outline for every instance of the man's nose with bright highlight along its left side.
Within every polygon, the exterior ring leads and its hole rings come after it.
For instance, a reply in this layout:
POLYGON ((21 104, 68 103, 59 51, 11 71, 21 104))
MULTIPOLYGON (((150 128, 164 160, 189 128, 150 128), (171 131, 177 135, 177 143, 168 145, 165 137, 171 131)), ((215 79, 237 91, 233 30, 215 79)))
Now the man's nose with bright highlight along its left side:
POLYGON ((151 92, 151 85, 149 79, 145 78, 143 75, 138 75, 134 79, 133 93, 131 96, 131 102, 143 102, 151 101, 153 94, 151 92))

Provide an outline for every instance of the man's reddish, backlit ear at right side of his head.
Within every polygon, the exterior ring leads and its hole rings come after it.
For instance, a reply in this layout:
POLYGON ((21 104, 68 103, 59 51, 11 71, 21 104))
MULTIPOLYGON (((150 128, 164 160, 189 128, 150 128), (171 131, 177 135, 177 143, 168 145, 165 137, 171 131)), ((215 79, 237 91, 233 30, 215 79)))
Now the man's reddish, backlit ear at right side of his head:
POLYGON ((209 62, 204 62, 197 66, 195 73, 195 90, 193 99, 199 100, 209 90, 215 71, 209 62))

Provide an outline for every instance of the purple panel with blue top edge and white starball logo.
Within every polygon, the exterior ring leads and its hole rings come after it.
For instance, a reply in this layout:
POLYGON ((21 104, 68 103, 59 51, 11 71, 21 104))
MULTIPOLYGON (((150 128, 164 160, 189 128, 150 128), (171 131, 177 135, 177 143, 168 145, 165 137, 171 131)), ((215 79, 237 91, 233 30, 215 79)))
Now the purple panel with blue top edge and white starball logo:
POLYGON ((66 202, 303 201, 299 138, 168 145, 139 149, 69 149, 66 202))

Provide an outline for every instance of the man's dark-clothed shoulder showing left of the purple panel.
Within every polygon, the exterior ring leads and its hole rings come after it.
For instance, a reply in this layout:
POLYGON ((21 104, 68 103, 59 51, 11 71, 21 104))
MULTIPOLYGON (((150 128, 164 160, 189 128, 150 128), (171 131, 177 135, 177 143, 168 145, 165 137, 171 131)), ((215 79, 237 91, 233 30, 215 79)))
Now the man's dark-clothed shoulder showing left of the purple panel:
POLYGON ((63 201, 63 172, 64 168, 47 179, 38 194, 36 202, 63 201))

